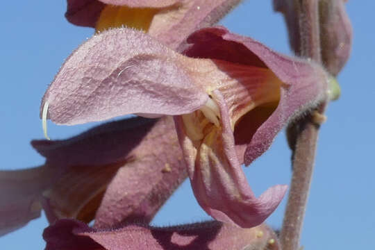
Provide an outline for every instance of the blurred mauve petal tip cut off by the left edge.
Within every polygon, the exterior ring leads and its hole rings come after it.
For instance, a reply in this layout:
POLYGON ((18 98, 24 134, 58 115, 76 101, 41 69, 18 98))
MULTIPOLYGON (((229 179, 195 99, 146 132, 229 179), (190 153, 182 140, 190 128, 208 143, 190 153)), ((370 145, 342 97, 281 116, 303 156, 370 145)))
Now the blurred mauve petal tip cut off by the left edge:
POLYGON ((45 165, 0 171, 0 235, 40 217, 42 191, 57 177, 58 171, 45 165))

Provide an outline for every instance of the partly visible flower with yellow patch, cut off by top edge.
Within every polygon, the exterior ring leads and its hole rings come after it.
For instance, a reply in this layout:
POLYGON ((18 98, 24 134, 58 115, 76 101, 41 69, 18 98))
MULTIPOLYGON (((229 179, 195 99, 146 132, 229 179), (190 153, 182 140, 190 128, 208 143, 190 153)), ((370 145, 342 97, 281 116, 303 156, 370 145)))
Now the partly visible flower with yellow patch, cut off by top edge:
POLYGON ((222 19, 240 0, 67 0, 65 17, 97 31, 127 26, 176 49, 193 31, 222 19))

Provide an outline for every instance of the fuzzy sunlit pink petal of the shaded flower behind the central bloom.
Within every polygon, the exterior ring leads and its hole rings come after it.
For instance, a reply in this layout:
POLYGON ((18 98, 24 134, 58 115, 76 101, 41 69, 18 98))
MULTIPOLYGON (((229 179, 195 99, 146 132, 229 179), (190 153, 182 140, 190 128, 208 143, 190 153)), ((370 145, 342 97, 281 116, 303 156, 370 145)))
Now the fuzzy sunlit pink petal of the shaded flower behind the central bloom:
POLYGON ((150 222, 188 176, 172 117, 161 118, 133 155, 133 161, 119 169, 108 186, 95 227, 108 228, 124 221, 150 222))

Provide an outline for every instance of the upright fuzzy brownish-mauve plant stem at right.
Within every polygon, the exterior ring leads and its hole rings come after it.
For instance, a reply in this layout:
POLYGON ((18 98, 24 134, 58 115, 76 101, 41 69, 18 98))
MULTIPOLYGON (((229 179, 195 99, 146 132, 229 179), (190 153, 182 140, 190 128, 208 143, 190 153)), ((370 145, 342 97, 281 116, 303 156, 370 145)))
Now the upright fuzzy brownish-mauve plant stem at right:
MULTIPOLYGON (((295 52, 299 56, 322 63, 318 1, 294 0, 294 6, 299 15, 299 35, 301 40, 301 48, 295 52)), ((325 105, 323 103, 319 111, 323 112, 325 105)), ((293 124, 289 131, 294 132, 291 143, 293 174, 280 240, 283 250, 297 250, 299 249, 303 217, 313 177, 319 125, 313 122, 313 115, 309 115, 293 124)))

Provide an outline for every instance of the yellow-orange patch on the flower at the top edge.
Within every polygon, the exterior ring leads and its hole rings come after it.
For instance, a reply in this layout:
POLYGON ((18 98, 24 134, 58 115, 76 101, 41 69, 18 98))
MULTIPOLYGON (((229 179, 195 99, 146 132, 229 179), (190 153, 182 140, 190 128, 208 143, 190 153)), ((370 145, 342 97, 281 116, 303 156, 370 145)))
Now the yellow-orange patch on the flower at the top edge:
POLYGON ((147 32, 153 16, 160 8, 129 8, 126 6, 107 5, 101 11, 97 21, 96 31, 105 31, 108 28, 127 26, 147 32))

